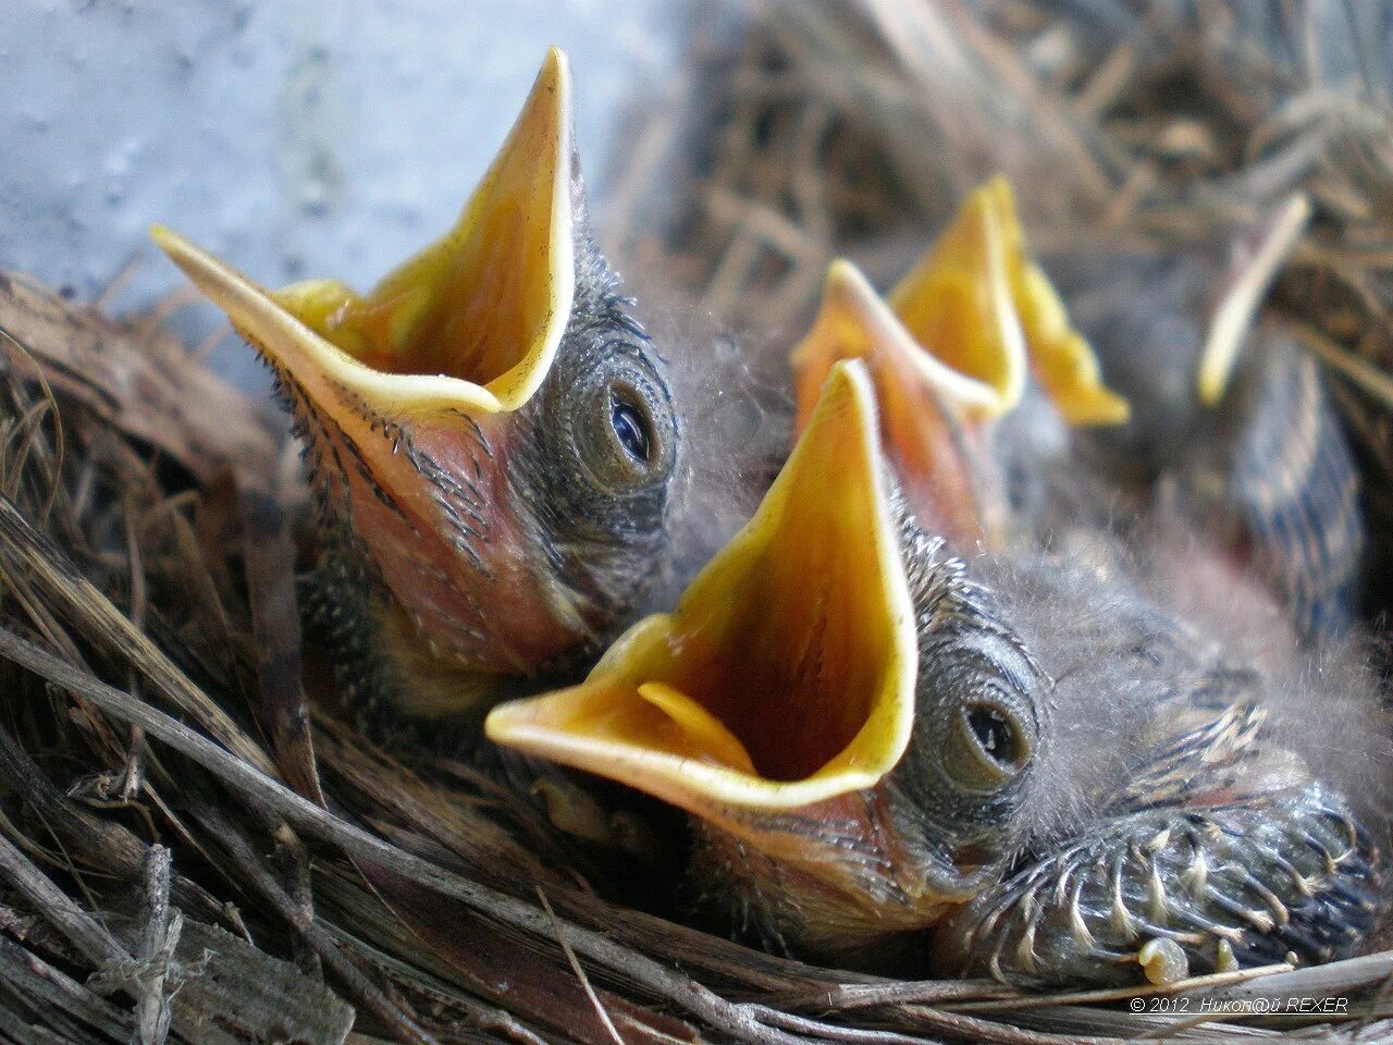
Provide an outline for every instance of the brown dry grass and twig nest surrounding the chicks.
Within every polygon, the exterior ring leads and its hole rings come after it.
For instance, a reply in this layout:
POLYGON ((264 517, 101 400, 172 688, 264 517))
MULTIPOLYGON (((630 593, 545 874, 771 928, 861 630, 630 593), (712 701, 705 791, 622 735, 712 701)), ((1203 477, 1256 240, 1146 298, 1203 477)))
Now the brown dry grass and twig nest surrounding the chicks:
MULTIPOLYGON (((702 26, 602 201, 623 268, 777 343, 830 258, 886 283, 993 173, 1042 251, 1183 242, 1304 189, 1272 307, 1326 364, 1387 532, 1386 6, 790 0, 702 26)), ((0 277, 0 1042, 1393 1034, 1393 952, 1133 1013, 808 967, 623 906, 623 874, 529 796, 407 765, 306 697, 294 447, 164 316, 99 305, 0 277), (1347 1007, 1199 1002, 1276 996, 1347 1007)))

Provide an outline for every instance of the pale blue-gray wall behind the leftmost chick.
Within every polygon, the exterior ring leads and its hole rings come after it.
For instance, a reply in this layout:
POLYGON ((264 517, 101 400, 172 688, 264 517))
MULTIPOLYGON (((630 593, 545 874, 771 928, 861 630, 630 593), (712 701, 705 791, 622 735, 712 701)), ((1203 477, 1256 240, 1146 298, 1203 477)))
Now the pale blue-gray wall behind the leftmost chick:
MULTIPOLYGON (((602 178, 660 91, 663 0, 0 0, 0 268, 117 304, 181 286, 164 222, 279 284, 369 286, 443 231, 547 45, 571 54, 602 178)), ((235 355, 223 362, 238 371, 235 355)))

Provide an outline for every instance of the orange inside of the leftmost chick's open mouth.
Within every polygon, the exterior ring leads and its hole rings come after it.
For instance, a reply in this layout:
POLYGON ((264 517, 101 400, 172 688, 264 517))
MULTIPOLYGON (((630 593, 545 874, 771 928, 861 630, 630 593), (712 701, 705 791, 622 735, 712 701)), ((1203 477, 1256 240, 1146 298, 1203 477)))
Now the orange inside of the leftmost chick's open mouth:
POLYGON ((550 366, 575 291, 568 84, 553 49, 460 220, 371 294, 309 280, 276 301, 379 375, 453 378, 521 405, 550 366))

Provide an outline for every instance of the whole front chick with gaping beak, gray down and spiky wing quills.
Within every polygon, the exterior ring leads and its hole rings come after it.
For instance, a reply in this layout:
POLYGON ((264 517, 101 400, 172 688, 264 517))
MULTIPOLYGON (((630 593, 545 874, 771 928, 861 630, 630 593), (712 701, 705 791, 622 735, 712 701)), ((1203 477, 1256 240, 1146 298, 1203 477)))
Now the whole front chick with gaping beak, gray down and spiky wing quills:
POLYGON ((1382 857, 1269 681, 1100 567, 953 559, 880 424, 833 365, 677 607, 488 736, 692 814, 699 899, 790 953, 1020 984, 1350 953, 1382 857))

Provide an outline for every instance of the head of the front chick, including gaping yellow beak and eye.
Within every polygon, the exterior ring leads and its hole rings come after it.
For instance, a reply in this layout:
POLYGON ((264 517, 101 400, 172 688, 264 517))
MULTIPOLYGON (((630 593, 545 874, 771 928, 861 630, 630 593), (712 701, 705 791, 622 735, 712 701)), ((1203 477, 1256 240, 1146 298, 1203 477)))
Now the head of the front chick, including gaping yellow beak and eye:
POLYGON ((871 379, 836 364, 676 609, 486 733, 699 818, 708 849, 740 853, 730 892, 804 949, 932 924, 999 869, 1041 725, 1029 658, 917 534, 871 379))

